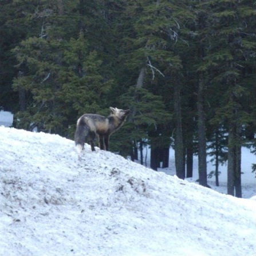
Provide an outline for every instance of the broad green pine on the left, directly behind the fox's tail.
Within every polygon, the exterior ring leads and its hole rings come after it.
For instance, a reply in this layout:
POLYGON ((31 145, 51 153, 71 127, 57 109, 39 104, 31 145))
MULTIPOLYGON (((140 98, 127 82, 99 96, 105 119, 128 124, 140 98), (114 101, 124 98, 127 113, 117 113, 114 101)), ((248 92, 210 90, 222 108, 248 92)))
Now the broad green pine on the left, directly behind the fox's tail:
POLYGON ((23 40, 13 50, 18 68, 23 69, 13 86, 25 90, 29 99, 25 111, 18 113, 18 127, 31 129, 33 124, 42 131, 71 136, 73 129, 68 129, 77 115, 101 109, 100 98, 109 82, 100 74, 99 54, 84 39, 78 21, 85 17, 77 6, 73 1, 42 2, 32 16, 42 24, 39 36, 23 40), (78 37, 70 37, 74 33, 78 37))

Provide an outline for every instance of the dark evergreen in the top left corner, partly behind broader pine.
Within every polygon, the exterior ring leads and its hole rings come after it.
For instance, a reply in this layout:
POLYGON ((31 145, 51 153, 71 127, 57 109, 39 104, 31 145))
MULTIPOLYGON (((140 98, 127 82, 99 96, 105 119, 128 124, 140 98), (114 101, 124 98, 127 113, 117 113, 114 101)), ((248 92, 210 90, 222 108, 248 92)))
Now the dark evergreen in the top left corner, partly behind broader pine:
POLYGON ((17 112, 23 107, 24 92, 14 92, 13 77, 18 76, 15 57, 11 49, 36 32, 37 22, 32 22, 27 13, 36 9, 37 1, 1 1, 0 10, 0 108, 17 112))

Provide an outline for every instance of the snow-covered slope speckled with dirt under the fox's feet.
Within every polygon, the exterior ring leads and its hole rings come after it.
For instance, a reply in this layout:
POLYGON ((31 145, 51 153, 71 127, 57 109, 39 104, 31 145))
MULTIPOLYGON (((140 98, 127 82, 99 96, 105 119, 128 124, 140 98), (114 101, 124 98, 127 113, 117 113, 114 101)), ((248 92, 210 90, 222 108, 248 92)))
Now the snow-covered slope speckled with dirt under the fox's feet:
POLYGON ((0 255, 253 255, 255 201, 0 127, 0 255), (254 204, 253 204, 254 203, 254 204))

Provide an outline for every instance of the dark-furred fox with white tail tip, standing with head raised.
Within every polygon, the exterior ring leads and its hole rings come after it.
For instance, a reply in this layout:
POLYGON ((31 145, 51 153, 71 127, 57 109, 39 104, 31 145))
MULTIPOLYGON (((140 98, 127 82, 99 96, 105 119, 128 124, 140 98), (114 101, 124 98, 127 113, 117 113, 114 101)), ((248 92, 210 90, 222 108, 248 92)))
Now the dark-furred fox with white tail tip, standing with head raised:
POLYGON ((109 136, 117 131, 127 118, 129 109, 109 108, 111 114, 108 117, 97 114, 84 114, 77 120, 77 128, 74 133, 74 141, 77 151, 80 153, 84 149, 86 139, 89 139, 92 151, 94 148, 94 139, 97 136, 99 147, 103 150, 109 148, 109 136))

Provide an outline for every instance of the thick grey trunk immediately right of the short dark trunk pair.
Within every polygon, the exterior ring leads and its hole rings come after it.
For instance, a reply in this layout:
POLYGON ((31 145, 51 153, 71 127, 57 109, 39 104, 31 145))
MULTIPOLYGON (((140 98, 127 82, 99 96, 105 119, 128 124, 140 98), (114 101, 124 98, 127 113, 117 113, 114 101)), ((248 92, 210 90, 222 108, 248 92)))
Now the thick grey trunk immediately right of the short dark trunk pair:
POLYGON ((180 103, 180 84, 176 82, 174 86, 174 112, 175 112, 175 167, 176 175, 180 179, 185 178, 184 158, 183 158, 183 139, 182 139, 182 107, 180 103))

